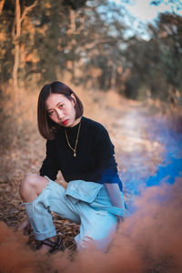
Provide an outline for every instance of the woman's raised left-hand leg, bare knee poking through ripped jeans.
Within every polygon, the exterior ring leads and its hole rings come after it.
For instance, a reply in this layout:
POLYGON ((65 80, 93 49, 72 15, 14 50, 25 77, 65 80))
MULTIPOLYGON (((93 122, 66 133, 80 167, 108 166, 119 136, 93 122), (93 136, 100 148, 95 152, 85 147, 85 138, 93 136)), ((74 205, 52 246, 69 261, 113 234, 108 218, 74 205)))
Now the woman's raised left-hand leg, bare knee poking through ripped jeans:
MULTIPOLYGON (((25 201, 26 214, 36 240, 47 244, 48 238, 56 242, 57 246, 56 228, 51 212, 80 223, 75 206, 66 197, 66 189, 48 177, 25 177, 20 185, 20 194, 25 201)), ((44 245, 43 247, 45 248, 44 245)))

